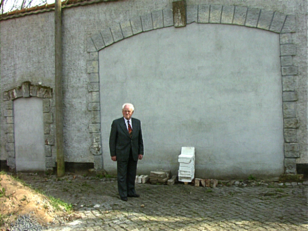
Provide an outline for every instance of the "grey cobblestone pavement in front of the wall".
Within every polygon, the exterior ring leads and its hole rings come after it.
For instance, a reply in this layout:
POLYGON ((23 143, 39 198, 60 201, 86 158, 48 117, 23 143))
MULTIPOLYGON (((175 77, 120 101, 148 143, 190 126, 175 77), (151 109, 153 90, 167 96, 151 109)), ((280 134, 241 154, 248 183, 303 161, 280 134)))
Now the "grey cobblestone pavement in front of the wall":
MULTIPOLYGON (((196 187, 137 184, 140 198, 119 199, 115 180, 67 176, 21 177, 33 188, 74 205, 81 215, 48 231, 303 230, 308 229, 307 185, 196 187)), ((306 182, 307 183, 307 182, 306 182)))

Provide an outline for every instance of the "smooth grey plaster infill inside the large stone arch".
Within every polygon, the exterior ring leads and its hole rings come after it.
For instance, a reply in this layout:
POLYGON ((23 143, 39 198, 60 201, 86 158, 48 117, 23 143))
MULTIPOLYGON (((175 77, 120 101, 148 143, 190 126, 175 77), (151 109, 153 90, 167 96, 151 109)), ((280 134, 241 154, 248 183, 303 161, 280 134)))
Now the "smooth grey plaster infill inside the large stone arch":
MULTIPOLYGON (((191 24, 142 33, 100 51, 103 147, 120 102, 141 119, 139 171, 176 174, 182 146, 196 147, 205 178, 283 173, 278 34, 230 25, 191 24)), ((104 167, 114 162, 104 152, 104 167)))

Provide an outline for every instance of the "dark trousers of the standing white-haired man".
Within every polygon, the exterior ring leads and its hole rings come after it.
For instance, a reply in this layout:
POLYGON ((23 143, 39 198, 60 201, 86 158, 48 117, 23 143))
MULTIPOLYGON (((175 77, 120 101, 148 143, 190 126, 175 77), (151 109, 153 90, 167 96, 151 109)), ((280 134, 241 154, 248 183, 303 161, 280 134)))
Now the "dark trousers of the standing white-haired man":
POLYGON ((118 171, 118 190, 120 197, 127 197, 136 194, 134 189, 137 162, 132 158, 131 151, 129 153, 128 161, 117 161, 118 171))

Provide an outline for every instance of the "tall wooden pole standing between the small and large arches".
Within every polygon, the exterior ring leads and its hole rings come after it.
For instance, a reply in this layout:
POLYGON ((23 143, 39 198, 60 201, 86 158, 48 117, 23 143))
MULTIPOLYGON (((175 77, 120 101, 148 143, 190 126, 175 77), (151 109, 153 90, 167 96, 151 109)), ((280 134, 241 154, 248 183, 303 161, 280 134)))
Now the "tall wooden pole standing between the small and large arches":
POLYGON ((54 68, 55 68, 55 140, 57 177, 65 174, 63 151, 63 92, 62 92, 62 8, 61 0, 54 6, 54 68))

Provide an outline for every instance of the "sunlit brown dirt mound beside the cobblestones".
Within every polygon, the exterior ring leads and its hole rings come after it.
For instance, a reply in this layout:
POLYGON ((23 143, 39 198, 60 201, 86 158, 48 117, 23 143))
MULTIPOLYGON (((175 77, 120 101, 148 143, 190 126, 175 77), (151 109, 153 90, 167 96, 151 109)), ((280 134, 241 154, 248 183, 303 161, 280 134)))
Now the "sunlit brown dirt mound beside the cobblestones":
POLYGON ((0 213, 0 230, 6 230, 20 215, 29 214, 42 225, 68 216, 64 208, 56 209, 46 196, 6 174, 0 174, 0 213))

